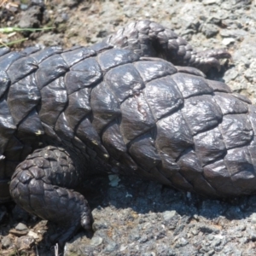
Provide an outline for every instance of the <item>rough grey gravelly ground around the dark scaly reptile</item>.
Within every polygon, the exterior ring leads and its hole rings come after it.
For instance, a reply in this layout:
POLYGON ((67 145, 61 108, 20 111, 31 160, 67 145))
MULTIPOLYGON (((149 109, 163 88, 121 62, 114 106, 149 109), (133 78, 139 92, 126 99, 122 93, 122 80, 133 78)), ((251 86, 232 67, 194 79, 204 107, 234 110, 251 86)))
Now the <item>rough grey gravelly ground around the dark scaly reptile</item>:
MULTIPOLYGON (((222 78, 216 73, 209 76, 224 79, 232 90, 256 103, 253 1, 7 2, 0 9, 0 26, 55 26, 44 33, 0 35, 4 44, 28 38, 15 48, 94 44, 138 19, 172 28, 196 49, 227 48, 232 54, 232 60, 224 63, 227 71, 220 73, 222 78)), ((212 201, 158 183, 129 177, 109 183, 108 178, 94 177, 86 184, 95 218, 94 234, 79 231, 67 242, 64 255, 256 255, 256 195, 212 201)), ((49 246, 52 234, 54 225, 14 205, 0 206, 1 255, 54 255, 49 246)))

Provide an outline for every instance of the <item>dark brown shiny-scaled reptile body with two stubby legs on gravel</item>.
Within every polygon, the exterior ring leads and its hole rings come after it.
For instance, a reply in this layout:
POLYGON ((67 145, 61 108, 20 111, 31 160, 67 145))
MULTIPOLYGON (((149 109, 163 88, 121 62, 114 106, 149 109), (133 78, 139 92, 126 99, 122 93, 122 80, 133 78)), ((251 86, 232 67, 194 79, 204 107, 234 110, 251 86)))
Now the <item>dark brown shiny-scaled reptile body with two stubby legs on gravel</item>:
POLYGON ((256 108, 205 78, 223 49, 193 51, 149 20, 101 44, 0 49, 0 202, 61 224, 61 243, 92 217, 73 191, 95 172, 201 195, 256 189, 256 108), (197 69, 197 68, 199 69, 197 69))

